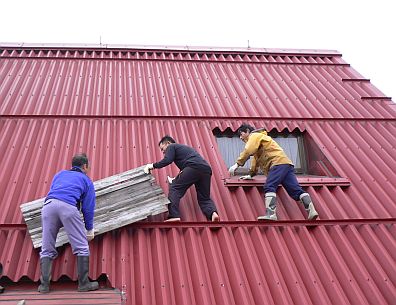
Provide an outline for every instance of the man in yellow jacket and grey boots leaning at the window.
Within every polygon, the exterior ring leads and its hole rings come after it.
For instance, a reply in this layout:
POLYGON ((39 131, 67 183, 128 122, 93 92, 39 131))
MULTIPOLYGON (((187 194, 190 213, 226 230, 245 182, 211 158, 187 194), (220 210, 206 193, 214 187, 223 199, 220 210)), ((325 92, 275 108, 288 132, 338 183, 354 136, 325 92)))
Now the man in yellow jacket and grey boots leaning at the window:
POLYGON ((238 128, 239 138, 246 143, 245 150, 239 155, 236 163, 230 167, 231 175, 239 166, 253 156, 249 175, 241 179, 253 179, 261 168, 267 176, 264 185, 266 214, 259 216, 258 220, 277 220, 276 216, 276 190, 281 184, 294 200, 300 200, 304 205, 309 220, 315 220, 319 214, 315 210, 311 196, 299 185, 294 173, 294 165, 287 157, 283 149, 264 130, 254 130, 248 124, 242 124, 238 128))

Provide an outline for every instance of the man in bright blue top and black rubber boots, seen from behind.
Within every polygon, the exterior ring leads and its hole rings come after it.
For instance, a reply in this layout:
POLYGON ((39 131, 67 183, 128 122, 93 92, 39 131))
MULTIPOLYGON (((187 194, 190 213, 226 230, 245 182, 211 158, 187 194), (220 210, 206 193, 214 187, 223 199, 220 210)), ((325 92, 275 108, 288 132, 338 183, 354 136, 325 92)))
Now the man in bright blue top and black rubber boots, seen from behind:
POLYGON ((89 246, 94 238, 93 217, 95 188, 87 176, 89 170, 86 154, 72 159, 72 168, 57 173, 41 210, 43 241, 40 252, 41 284, 38 291, 49 292, 52 261, 58 256, 56 237, 65 228, 74 255, 77 255, 78 291, 98 289, 98 282, 88 279, 89 246), (81 219, 79 208, 84 217, 81 219))

